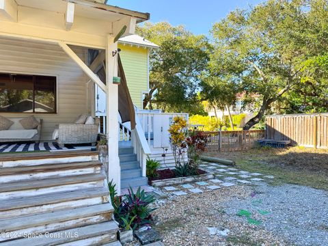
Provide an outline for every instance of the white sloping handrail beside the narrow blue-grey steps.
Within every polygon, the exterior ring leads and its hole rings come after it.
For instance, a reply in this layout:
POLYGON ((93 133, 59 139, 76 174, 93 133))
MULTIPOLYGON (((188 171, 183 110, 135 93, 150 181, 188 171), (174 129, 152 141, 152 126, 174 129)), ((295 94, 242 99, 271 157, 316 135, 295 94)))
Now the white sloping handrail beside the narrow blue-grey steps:
POLYGON ((134 153, 137 154, 137 160, 141 167, 141 176, 146 177, 146 161, 147 155, 152 154, 148 142, 145 137, 145 133, 141 126, 137 113, 135 114, 135 129, 131 134, 131 143, 134 149, 134 153))

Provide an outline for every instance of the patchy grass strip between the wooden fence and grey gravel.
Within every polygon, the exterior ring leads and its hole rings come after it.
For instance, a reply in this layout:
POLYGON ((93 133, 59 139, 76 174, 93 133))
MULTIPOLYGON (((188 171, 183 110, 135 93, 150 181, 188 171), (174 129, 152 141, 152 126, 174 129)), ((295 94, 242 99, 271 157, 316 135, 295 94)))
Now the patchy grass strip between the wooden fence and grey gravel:
POLYGON ((238 168, 249 172, 273 175, 274 179, 267 179, 273 185, 300 184, 328 191, 328 150, 264 147, 209 155, 234 160, 238 168))

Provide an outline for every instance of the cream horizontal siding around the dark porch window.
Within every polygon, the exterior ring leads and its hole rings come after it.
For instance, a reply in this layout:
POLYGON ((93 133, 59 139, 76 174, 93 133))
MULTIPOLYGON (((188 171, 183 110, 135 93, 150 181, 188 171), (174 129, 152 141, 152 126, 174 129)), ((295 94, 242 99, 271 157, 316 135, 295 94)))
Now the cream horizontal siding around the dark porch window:
MULTIPOLYGON (((84 59, 83 49, 74 51, 84 59)), ((87 113, 86 77, 83 71, 54 44, 0 38, 0 72, 57 76, 57 113, 36 114, 43 119, 42 140, 50 140, 56 124, 72 123, 87 113)), ((31 114, 1 113, 5 117, 31 114)))

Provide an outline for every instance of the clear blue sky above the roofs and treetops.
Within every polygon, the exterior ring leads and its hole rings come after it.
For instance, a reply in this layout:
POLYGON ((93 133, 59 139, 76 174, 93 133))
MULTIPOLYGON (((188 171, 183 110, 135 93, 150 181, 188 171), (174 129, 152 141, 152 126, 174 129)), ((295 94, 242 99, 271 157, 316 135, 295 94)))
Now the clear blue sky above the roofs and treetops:
POLYGON ((196 34, 208 34, 213 23, 236 8, 248 8, 263 0, 108 0, 107 4, 149 12, 150 21, 184 25, 196 34))

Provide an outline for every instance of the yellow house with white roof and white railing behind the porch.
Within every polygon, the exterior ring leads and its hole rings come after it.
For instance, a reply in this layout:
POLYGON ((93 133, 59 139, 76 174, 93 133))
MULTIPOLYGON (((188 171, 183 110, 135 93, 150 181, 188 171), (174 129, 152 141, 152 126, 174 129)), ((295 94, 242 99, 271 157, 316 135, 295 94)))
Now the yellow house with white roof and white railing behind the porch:
MULTIPOLYGON (((161 161, 162 167, 172 167, 174 165, 174 156, 170 148, 169 133, 167 130, 174 116, 181 115, 188 120, 188 114, 163 113, 160 109, 143 109, 143 98, 150 90, 149 53, 152 49, 159 49, 159 46, 135 34, 120 38, 118 40, 118 48, 120 49, 120 57, 122 59, 128 91, 131 94, 131 99, 137 112, 137 120, 139 120, 143 128, 148 146, 150 147, 151 154, 149 156, 152 159, 161 161)), ((95 115, 100 118, 100 132, 105 133, 106 94, 97 85, 95 86, 95 90, 95 115)), ((122 124, 120 115, 118 115, 118 118, 120 122, 120 143, 122 141, 130 141, 130 122, 122 124)), ((121 179, 124 177, 124 172, 122 174, 121 179)), ((137 177, 135 176, 133 178, 137 177)))

